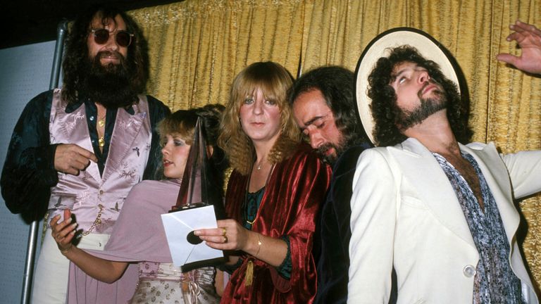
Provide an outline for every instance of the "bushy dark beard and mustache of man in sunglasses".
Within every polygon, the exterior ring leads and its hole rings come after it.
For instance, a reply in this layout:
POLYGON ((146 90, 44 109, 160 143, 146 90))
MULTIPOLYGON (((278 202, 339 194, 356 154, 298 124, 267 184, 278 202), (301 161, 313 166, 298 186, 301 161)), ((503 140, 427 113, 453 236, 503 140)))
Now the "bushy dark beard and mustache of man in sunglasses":
POLYGON ((84 91, 91 101, 106 108, 124 108, 137 102, 137 92, 132 88, 130 68, 117 51, 101 51, 87 61, 87 75, 83 80, 84 91), (120 63, 102 65, 102 56, 115 55, 120 63))

